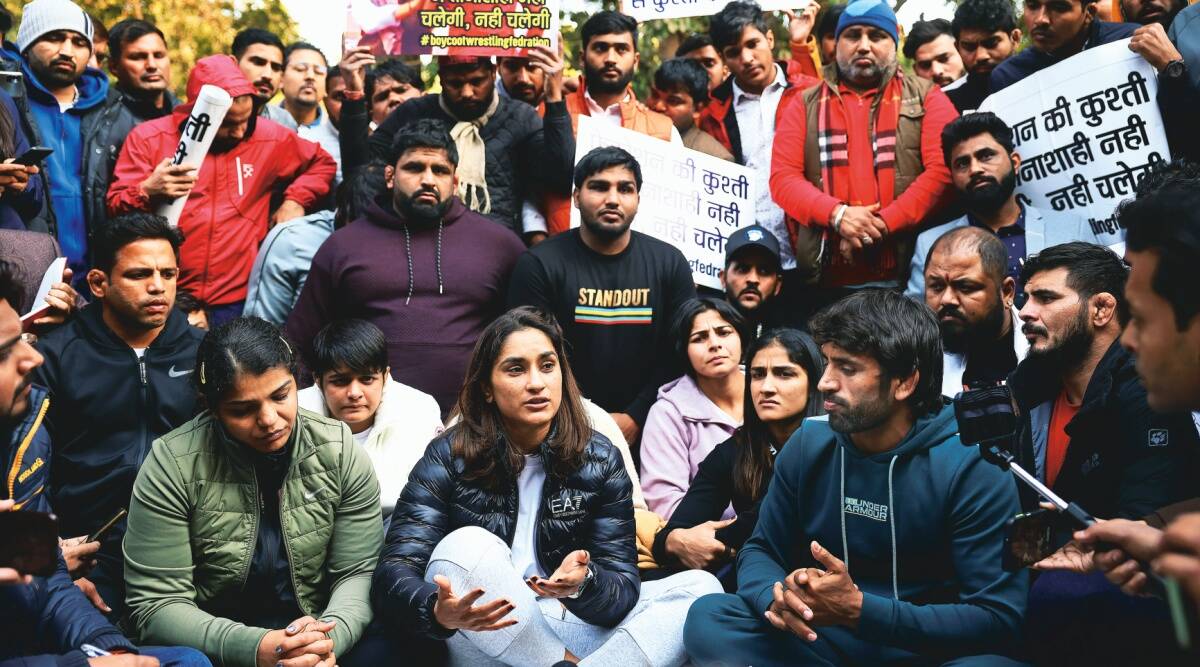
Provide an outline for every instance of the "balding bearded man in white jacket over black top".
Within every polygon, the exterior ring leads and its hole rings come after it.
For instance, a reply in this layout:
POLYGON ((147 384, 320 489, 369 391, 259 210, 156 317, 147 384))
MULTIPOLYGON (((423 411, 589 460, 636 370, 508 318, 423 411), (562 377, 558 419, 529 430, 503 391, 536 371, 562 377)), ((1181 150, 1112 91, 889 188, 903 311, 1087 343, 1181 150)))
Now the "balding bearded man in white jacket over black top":
POLYGON ((978 227, 947 232, 925 260, 925 305, 942 331, 942 393, 1003 384, 1030 344, 1016 331, 1016 282, 1004 275, 1008 252, 978 227))

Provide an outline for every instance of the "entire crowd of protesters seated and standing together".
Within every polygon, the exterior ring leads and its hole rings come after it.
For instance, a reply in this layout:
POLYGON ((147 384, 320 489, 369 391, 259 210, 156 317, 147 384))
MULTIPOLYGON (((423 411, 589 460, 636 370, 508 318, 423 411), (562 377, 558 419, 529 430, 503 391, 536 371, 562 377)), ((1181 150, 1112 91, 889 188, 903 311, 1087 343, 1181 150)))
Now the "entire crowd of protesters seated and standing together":
POLYGON ((644 101, 612 11, 430 94, 248 29, 186 100, 185 35, 0 14, 0 666, 1194 663, 1198 14, 734 0, 644 101), (1122 256, 977 109, 1124 38, 1177 160, 1122 256), (232 106, 176 164, 202 86, 232 106), (722 289, 581 115, 754 174, 722 289), (964 441, 995 387, 1099 521, 964 441))

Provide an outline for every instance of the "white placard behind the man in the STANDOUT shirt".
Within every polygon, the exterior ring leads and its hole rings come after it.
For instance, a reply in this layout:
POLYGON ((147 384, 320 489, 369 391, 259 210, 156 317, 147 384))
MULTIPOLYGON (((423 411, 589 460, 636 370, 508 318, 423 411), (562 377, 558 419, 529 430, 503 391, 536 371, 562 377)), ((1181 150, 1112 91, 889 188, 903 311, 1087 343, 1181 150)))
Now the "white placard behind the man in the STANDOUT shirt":
MULTIPOLYGON (((721 288, 725 240, 754 224, 754 173, 734 162, 685 149, 608 121, 580 116, 575 162, 592 149, 619 146, 642 168, 641 203, 632 228, 679 248, 696 284, 721 288)), ((571 210, 571 227, 580 211, 571 210)))

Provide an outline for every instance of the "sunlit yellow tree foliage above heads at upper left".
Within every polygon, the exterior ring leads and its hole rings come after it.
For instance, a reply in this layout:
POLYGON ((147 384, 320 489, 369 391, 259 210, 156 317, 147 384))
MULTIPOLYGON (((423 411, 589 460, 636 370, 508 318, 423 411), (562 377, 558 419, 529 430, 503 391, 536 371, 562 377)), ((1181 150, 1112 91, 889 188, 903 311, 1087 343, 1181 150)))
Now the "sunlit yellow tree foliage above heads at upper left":
MULTIPOLYGON (((20 7, 13 10, 13 4, 6 2, 16 29, 20 25, 20 7)), ((283 43, 296 38, 295 22, 282 0, 86 0, 80 5, 106 26, 122 18, 139 18, 157 25, 167 36, 170 83, 180 97, 196 61, 215 53, 229 53, 229 44, 239 30, 263 28, 277 34, 283 43)))

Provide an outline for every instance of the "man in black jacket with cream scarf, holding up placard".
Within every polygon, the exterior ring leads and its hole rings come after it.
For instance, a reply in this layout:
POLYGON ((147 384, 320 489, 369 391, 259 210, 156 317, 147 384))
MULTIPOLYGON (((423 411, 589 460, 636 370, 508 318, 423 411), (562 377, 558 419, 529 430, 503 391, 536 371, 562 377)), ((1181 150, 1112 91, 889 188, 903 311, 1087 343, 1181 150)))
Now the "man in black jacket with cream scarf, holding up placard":
POLYGON ((532 107, 496 92, 487 59, 439 58, 438 76, 442 92, 397 107, 371 134, 371 152, 386 158, 392 137, 414 120, 448 124, 458 148, 458 197, 520 235, 524 200, 571 192, 575 133, 562 91, 547 91, 544 125, 532 107))

